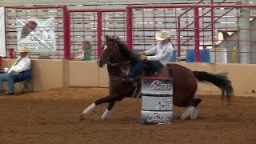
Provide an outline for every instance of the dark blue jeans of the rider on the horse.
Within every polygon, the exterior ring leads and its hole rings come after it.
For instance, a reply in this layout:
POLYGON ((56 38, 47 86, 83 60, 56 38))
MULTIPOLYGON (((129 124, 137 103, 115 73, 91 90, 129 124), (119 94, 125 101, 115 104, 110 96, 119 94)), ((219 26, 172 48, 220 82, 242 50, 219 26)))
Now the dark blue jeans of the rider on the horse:
POLYGON ((153 72, 156 72, 162 68, 162 63, 158 61, 146 61, 143 60, 138 62, 133 68, 130 69, 130 76, 136 77, 142 73, 142 70, 149 69, 153 72))

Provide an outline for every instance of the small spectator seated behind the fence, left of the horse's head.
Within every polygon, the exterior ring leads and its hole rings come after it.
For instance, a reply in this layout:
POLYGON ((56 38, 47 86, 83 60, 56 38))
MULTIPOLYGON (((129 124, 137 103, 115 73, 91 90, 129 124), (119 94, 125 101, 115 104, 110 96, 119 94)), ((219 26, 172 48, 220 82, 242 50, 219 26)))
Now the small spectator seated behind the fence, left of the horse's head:
POLYGON ((90 61, 91 60, 91 50, 92 46, 89 41, 82 42, 81 53, 76 56, 75 59, 81 61, 90 61))

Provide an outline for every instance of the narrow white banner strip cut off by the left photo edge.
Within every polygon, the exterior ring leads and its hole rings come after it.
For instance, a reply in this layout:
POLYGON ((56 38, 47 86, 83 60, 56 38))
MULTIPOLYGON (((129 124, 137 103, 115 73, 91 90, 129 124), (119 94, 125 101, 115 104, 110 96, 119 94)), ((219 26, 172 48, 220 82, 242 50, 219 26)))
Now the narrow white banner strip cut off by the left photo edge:
POLYGON ((5 9, 0 7, 0 56, 6 57, 5 9))

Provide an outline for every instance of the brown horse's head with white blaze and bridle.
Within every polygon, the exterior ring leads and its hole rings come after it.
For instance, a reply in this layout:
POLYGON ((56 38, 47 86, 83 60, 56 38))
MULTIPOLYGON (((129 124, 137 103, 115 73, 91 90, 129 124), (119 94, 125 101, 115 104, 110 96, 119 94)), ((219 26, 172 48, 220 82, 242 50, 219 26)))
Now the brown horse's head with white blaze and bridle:
POLYGON ((102 46, 102 54, 98 58, 98 66, 102 67, 107 62, 120 62, 122 60, 121 55, 118 46, 118 38, 110 38, 106 35, 106 42, 102 46))

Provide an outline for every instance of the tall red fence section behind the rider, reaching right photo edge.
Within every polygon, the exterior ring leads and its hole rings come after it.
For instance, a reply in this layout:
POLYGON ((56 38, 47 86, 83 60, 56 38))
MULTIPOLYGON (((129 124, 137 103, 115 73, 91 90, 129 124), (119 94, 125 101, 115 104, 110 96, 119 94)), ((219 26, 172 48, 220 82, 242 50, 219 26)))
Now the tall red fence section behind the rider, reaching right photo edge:
POLYGON ((135 51, 156 44, 170 30, 174 62, 255 63, 255 5, 128 6, 128 44, 135 51), (129 27, 131 26, 131 27, 129 27))

